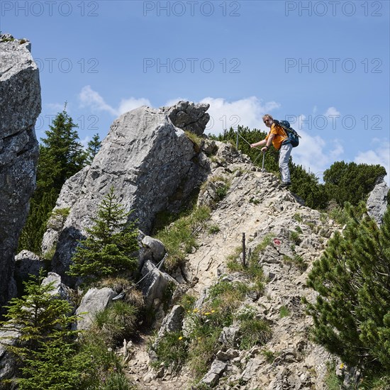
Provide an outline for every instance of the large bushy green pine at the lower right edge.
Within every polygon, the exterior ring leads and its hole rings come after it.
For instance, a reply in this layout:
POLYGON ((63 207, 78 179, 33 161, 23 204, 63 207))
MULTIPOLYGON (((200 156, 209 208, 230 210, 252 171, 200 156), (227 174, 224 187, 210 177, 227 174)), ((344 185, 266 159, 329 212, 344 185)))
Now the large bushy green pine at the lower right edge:
POLYGON ((329 240, 308 276, 319 294, 308 313, 317 342, 348 364, 384 374, 390 372, 390 206, 380 228, 364 204, 349 213, 345 230, 329 240))

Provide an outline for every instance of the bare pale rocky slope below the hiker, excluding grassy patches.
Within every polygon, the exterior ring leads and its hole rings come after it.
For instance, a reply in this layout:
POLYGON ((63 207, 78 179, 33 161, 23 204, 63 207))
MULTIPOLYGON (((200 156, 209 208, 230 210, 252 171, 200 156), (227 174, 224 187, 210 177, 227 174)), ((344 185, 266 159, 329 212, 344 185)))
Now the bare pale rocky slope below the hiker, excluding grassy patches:
MULTIPOLYGON (((243 305, 252 307, 271 325, 272 338, 251 350, 232 349, 226 343, 201 382, 215 389, 325 390, 327 362, 334 357, 308 339, 312 321, 301 299, 315 299, 314 291, 306 287, 306 277, 338 226, 300 204, 294 194, 280 189, 274 174, 260 172, 230 145, 216 144, 218 151, 213 156, 209 178, 225 177, 231 181, 228 195, 216 205, 207 224, 218 225, 219 232, 211 234, 204 228, 198 238, 199 248, 187 257, 186 280, 179 273, 174 276, 188 289, 187 294, 198 298, 197 307, 201 310, 208 289, 221 279, 249 283, 242 274, 231 274, 226 267, 227 257, 242 243, 242 233, 247 237, 247 256, 265 238, 270 239, 258 258, 267 278, 264 294, 247 296, 243 305), (281 316, 282 308, 289 313, 287 316, 281 316), (273 359, 269 360, 264 351, 273 359)), ((199 202, 207 203, 212 198, 213 186, 206 186, 199 202)), ((175 318, 177 310, 175 306, 169 316, 175 318)), ((183 324, 177 325, 177 316, 175 321, 173 329, 181 329, 183 324)), ((161 334, 172 331, 172 323, 165 322, 161 334)), ((228 332, 225 340, 235 333, 234 329, 224 331, 228 332)), ((186 368, 179 375, 169 369, 150 369, 145 345, 138 345, 133 354, 128 372, 139 389, 191 387, 191 374, 186 368)))

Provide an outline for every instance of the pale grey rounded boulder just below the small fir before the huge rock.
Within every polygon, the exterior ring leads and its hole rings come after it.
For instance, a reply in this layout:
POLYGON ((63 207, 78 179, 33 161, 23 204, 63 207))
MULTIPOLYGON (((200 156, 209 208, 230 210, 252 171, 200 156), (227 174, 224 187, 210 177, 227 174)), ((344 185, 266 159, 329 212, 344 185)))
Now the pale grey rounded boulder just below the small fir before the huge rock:
POLYGON ((116 295, 116 292, 108 287, 104 287, 103 289, 89 289, 87 294, 83 296, 80 306, 77 308, 76 314, 77 316, 80 316, 80 318, 74 325, 74 329, 89 329, 94 321, 96 313, 107 308, 108 304, 116 295))

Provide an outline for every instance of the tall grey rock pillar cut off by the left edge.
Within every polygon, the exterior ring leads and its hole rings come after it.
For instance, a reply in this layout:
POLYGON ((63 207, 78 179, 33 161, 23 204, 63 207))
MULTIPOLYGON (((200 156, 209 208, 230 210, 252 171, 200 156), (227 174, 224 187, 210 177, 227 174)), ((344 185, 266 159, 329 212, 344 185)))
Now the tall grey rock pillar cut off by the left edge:
POLYGON ((15 293, 14 256, 35 189, 39 71, 27 40, 0 36, 0 304, 15 293))

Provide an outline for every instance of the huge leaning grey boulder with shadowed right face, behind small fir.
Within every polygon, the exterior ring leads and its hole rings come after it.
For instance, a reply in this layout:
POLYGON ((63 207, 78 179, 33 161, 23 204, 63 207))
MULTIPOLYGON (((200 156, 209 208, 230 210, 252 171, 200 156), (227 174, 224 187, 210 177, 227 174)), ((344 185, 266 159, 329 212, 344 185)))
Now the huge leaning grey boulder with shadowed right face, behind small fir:
POLYGON ((209 167, 207 159, 199 155, 199 147, 174 126, 169 115, 175 119, 182 112, 183 117, 192 118, 199 133, 206 126, 207 109, 207 104, 188 102, 172 108, 143 106, 113 122, 91 166, 68 179, 57 199, 56 207, 70 208, 70 212, 64 225, 50 228, 43 238, 43 252, 56 246, 54 272, 65 276, 77 240, 91 226, 91 218, 96 217, 111 186, 121 204, 134 210, 130 218, 138 218, 145 233, 159 211, 177 209, 188 199, 209 167))

